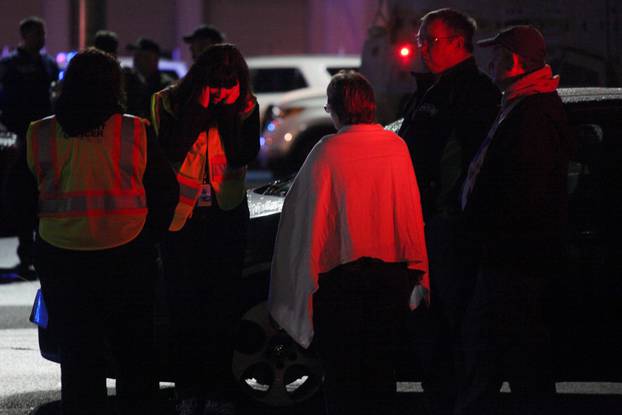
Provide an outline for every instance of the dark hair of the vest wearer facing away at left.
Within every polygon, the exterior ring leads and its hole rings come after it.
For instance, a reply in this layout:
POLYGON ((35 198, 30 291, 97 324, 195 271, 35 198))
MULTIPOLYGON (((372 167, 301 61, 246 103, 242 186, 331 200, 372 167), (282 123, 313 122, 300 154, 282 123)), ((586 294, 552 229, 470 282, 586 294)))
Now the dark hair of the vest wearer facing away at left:
POLYGON ((56 119, 70 136, 85 134, 123 113, 121 67, 108 53, 96 48, 78 52, 65 71, 56 119))

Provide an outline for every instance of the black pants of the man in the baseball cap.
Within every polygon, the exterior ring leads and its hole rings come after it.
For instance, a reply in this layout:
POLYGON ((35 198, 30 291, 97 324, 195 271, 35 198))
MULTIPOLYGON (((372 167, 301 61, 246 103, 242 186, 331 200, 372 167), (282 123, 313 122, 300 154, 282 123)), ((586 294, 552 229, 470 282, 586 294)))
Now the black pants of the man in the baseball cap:
POLYGON ((546 272, 482 266, 463 325, 466 376, 456 414, 496 414, 503 377, 517 414, 549 414, 555 383, 542 307, 546 272))

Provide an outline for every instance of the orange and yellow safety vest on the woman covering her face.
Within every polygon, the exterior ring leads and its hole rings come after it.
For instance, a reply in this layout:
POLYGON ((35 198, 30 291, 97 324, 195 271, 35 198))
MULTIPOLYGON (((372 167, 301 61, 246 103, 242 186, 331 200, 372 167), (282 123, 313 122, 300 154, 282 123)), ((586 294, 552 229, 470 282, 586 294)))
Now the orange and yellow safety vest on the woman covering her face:
MULTIPOLYGON (((252 97, 242 118, 250 116, 255 105, 256 100, 252 97)), ((159 134, 161 111, 166 111, 174 117, 170 103, 170 88, 156 92, 151 100, 151 114, 157 134, 159 134)), ((244 199, 246 166, 237 169, 229 166, 218 126, 213 125, 207 132, 202 131, 199 134, 184 161, 174 166, 179 182, 179 202, 169 226, 170 231, 183 228, 188 218, 192 216, 192 210, 199 200, 201 185, 205 178, 206 157, 209 166, 209 182, 214 190, 218 206, 222 210, 231 210, 244 199)))

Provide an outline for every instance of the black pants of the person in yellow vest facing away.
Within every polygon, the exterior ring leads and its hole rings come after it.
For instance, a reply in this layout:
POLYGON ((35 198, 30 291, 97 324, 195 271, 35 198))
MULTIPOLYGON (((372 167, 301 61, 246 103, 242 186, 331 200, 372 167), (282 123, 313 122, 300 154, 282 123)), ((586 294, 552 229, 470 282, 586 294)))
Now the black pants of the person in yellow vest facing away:
POLYGON ((139 236, 102 251, 70 251, 37 238, 35 266, 58 333, 64 415, 105 414, 116 372, 122 414, 153 413, 154 249, 139 236), (111 360, 109 360, 111 359, 111 360))

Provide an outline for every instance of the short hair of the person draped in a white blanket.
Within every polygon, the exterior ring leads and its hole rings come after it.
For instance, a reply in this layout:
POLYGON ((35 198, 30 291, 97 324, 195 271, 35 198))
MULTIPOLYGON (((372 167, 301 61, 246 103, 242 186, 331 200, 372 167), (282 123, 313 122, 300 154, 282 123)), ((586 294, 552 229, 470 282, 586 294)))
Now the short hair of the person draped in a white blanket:
POLYGON ((376 119, 374 90, 363 75, 352 70, 335 74, 326 88, 328 105, 343 125, 370 124, 376 119))

